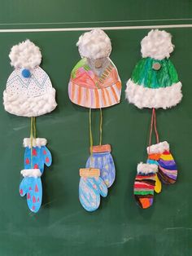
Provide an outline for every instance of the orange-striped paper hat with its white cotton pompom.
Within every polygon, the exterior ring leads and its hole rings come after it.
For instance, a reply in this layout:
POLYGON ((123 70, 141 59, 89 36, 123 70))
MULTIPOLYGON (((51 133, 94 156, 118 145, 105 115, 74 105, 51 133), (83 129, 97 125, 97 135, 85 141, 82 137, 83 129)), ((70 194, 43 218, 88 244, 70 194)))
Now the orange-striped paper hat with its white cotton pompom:
POLYGON ((120 102, 121 82, 115 64, 109 59, 111 41, 101 29, 84 33, 76 43, 81 60, 72 70, 68 95, 74 104, 85 108, 107 108, 120 102), (89 60, 107 58, 107 66, 98 76, 89 60))

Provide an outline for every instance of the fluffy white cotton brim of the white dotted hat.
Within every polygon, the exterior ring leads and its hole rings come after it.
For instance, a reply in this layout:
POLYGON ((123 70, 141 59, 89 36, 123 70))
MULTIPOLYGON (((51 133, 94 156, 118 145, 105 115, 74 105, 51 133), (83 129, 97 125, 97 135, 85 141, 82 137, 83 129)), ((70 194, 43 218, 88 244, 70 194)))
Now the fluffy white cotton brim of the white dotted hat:
POLYGON ((11 95, 6 90, 3 92, 5 110, 21 117, 37 117, 53 111, 57 104, 55 89, 51 88, 45 95, 28 97, 28 95, 11 95))

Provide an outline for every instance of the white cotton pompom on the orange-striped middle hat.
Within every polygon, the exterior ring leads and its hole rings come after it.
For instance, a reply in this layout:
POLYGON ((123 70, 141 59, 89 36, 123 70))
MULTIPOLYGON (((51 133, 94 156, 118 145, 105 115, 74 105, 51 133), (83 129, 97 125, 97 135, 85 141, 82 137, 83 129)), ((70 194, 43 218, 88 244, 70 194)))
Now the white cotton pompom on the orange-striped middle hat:
POLYGON ((102 29, 93 29, 81 35, 76 43, 81 57, 99 59, 111 54, 111 40, 102 29))

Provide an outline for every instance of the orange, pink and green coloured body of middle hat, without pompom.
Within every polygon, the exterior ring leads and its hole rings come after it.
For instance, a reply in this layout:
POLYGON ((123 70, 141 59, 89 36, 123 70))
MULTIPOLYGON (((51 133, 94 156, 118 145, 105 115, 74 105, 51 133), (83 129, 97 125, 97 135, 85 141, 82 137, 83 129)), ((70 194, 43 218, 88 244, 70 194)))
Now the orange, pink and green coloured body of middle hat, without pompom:
POLYGON ((120 103, 120 77, 109 58, 107 62, 101 76, 94 73, 86 58, 76 64, 68 85, 68 95, 74 104, 86 108, 107 108, 120 103))

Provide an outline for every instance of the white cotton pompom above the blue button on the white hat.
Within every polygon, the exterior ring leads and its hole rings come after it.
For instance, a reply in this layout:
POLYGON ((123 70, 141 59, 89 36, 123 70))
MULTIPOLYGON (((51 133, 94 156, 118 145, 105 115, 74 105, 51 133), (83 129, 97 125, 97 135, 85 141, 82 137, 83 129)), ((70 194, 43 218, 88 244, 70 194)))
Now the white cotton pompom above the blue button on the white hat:
POLYGON ((41 64, 41 51, 39 47, 28 39, 12 46, 9 57, 11 66, 15 68, 33 69, 41 64))

